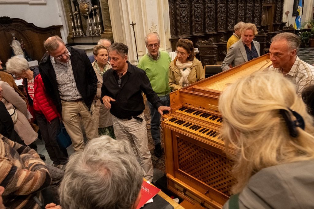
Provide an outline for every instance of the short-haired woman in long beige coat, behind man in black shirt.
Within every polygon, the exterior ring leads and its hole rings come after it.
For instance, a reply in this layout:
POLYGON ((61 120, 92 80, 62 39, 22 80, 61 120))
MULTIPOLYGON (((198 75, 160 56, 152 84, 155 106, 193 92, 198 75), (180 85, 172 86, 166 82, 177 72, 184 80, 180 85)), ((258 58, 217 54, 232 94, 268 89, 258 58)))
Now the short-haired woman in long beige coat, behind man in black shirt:
POLYGON ((115 138, 110 109, 105 108, 105 106, 100 103, 102 76, 108 69, 111 68, 110 62, 108 61, 108 49, 104 45, 96 45, 93 49, 93 54, 95 61, 92 65, 98 80, 97 93, 94 99, 98 133, 99 135, 107 134, 112 138, 115 138))

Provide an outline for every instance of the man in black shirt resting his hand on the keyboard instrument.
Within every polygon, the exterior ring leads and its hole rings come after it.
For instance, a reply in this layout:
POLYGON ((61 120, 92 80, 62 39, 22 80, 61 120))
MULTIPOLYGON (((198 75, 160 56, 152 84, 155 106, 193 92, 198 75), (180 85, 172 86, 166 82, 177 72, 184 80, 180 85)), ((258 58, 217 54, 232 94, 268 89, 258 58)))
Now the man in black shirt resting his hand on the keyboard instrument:
POLYGON ((106 108, 113 115, 113 128, 117 139, 126 139, 135 144, 144 172, 144 178, 153 179, 153 165, 147 146, 147 129, 143 114, 145 109, 142 91, 148 101, 162 111, 170 107, 162 106, 153 91, 145 72, 127 61, 128 47, 114 43, 109 48, 112 68, 103 75, 101 98, 106 108))

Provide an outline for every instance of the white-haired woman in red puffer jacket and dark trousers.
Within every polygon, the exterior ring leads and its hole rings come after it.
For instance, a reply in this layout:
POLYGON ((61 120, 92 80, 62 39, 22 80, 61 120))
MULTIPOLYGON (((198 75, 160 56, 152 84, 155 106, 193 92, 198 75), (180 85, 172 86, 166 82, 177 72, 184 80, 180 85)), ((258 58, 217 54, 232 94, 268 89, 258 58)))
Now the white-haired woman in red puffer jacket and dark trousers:
POLYGON ((57 131, 60 130, 60 115, 56 105, 46 93, 38 67, 30 70, 27 60, 14 56, 6 63, 8 73, 23 79, 24 91, 29 104, 29 110, 36 118, 41 136, 53 166, 63 169, 68 161, 68 152, 57 144, 57 131))

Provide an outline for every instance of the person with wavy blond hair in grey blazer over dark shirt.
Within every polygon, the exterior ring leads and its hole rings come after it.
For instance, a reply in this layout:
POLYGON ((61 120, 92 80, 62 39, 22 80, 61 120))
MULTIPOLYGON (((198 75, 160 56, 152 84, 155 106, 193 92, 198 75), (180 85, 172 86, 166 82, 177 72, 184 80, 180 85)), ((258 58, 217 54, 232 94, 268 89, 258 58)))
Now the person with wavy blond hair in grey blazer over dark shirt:
POLYGON ((230 65, 232 67, 241 65, 260 56, 259 43, 253 41, 256 34, 257 28, 255 24, 246 23, 244 25, 241 29, 241 39, 230 46, 227 56, 221 64, 223 71, 229 70, 230 65))

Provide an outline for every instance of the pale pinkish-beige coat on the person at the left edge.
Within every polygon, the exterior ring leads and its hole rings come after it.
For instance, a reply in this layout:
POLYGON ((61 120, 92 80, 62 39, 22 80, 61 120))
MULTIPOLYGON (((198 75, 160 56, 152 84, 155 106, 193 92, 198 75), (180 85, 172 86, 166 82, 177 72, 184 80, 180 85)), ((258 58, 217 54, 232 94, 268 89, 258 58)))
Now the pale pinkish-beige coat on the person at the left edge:
POLYGON ((2 102, 7 108, 13 109, 15 107, 18 120, 14 124, 14 130, 19 137, 24 141, 26 145, 31 144, 36 140, 38 137, 38 133, 36 133, 33 128, 30 126, 28 122, 28 113, 27 113, 27 106, 26 102, 19 96, 18 93, 14 91, 7 82, 0 81, 0 86, 3 88, 2 91, 2 102))

